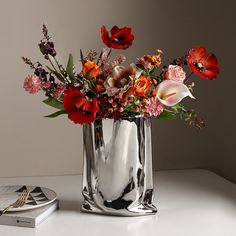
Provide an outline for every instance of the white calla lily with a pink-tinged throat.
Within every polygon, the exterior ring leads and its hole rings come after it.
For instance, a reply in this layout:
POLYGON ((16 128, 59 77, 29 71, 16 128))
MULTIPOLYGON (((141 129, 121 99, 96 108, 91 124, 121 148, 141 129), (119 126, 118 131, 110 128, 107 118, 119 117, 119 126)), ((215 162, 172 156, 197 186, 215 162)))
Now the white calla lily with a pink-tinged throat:
POLYGON ((156 96, 163 105, 169 107, 176 105, 187 96, 195 98, 185 84, 174 80, 161 82, 157 87, 156 96))

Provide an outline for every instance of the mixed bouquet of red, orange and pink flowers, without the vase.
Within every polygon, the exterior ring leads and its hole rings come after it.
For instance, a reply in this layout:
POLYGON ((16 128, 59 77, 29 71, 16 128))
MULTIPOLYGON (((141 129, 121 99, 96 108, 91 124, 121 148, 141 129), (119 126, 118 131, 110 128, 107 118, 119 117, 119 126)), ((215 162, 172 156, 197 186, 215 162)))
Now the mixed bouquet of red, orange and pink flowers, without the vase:
POLYGON ((111 59, 112 49, 127 49, 134 40, 129 27, 114 26, 109 35, 105 26, 101 37, 107 46, 97 58, 91 50, 86 56, 82 50, 82 70, 74 70, 74 59, 70 54, 67 66, 57 60, 54 43, 43 26, 43 39, 39 48, 49 65, 33 63, 22 57, 33 70, 24 81, 27 92, 35 94, 40 90, 48 97, 43 102, 58 111, 47 117, 68 114, 76 124, 91 123, 97 118, 122 118, 136 115, 157 116, 159 119, 183 118, 190 124, 202 127, 204 124, 192 110, 185 109, 181 100, 192 95, 194 83, 188 84, 191 75, 211 80, 219 73, 217 59, 208 54, 202 46, 191 49, 182 57, 174 59, 161 68, 163 52, 144 55, 135 63, 125 67, 124 55, 111 59), (187 76, 184 67, 190 69, 187 76))

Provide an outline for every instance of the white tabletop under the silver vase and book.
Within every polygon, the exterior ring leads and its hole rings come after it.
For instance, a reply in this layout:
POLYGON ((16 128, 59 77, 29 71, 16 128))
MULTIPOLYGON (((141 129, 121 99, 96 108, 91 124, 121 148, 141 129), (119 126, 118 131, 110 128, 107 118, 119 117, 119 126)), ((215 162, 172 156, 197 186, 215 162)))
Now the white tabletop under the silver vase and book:
POLYGON ((81 213, 81 176, 0 178, 0 185, 49 187, 60 210, 37 228, 0 226, 1 236, 235 236, 236 186, 205 170, 154 173, 156 216, 81 213))

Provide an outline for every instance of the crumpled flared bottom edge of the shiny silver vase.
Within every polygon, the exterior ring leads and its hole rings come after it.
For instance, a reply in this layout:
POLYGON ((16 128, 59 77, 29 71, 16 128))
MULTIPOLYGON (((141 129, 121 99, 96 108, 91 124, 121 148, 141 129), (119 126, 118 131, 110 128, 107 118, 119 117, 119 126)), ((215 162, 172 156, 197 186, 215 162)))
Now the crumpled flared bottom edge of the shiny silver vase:
POLYGON ((100 214, 100 215, 113 215, 113 216, 145 216, 145 215, 154 215, 157 213, 157 208, 154 205, 141 204, 136 207, 128 207, 127 209, 110 209, 103 208, 99 209, 95 207, 88 201, 84 201, 82 207, 82 212, 100 214))

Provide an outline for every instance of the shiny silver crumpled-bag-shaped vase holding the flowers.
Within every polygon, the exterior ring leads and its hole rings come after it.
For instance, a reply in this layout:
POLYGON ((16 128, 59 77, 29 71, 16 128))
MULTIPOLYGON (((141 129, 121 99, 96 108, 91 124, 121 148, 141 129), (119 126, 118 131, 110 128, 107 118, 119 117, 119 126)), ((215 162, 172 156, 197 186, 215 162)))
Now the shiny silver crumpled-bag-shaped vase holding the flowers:
POLYGON ((83 126, 81 210, 120 216, 155 214, 150 118, 97 119, 83 126))

